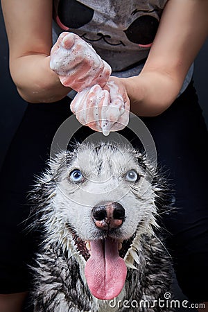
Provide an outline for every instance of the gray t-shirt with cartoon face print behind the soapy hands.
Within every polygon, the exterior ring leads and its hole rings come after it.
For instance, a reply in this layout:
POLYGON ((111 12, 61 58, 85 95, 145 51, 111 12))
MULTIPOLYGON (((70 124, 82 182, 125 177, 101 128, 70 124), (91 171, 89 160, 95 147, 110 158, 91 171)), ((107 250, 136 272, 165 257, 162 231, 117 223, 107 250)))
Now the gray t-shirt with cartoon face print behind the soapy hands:
MULTIPOLYGON (((167 0, 54 0, 53 38, 71 31, 94 46, 112 75, 136 76, 153 43, 167 0)), ((180 94, 189 85, 189 69, 180 94)))

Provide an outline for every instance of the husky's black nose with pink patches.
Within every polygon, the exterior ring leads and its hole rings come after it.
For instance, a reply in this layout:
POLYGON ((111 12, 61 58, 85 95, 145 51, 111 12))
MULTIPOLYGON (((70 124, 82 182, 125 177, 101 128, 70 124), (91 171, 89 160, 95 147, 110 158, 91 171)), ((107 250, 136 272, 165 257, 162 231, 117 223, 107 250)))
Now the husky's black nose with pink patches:
POLYGON ((119 202, 110 202, 106 205, 95 206, 92 209, 92 218, 96 227, 108 230, 120 227, 125 220, 125 209, 119 202))

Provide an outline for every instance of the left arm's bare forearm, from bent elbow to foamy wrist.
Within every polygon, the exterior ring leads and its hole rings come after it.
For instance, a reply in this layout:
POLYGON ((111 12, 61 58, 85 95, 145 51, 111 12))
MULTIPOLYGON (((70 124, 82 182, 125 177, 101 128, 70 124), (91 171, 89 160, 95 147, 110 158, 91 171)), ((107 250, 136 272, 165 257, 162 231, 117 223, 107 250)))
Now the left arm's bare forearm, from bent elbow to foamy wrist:
POLYGON ((59 101, 70 91, 50 69, 50 57, 42 54, 24 55, 10 62, 10 72, 17 90, 31 103, 59 101))

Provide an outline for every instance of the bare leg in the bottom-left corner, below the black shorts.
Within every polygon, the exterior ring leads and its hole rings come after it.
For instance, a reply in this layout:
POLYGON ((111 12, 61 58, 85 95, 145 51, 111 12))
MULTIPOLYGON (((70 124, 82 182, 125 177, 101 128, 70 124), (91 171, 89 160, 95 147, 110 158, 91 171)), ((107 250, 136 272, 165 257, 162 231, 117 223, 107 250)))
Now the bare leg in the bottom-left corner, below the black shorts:
POLYGON ((1 312, 21 312, 26 293, 0 294, 1 312))

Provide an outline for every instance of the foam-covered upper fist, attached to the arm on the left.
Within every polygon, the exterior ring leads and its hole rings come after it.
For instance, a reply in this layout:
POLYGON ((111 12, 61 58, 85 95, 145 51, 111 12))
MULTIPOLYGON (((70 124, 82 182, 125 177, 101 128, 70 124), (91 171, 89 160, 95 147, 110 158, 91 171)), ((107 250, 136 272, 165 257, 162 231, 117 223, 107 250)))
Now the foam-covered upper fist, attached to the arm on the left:
POLYGON ((50 67, 65 87, 77 92, 86 87, 104 87, 111 67, 101 59, 93 47, 78 35, 64 32, 51 49, 50 67))

